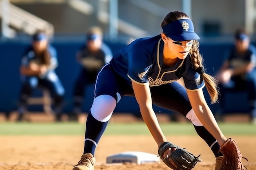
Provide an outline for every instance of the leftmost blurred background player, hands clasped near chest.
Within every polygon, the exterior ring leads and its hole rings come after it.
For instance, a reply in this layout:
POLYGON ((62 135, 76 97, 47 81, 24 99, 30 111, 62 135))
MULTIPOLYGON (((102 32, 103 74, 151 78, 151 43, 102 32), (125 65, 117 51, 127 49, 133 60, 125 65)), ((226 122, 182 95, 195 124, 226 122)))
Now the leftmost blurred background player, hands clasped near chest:
POLYGON ((38 32, 32 36, 31 47, 22 57, 20 74, 22 87, 19 96, 18 119, 21 121, 27 110, 27 99, 34 88, 47 88, 54 97, 53 110, 56 121, 61 120, 63 95, 65 90, 55 68, 58 66, 57 53, 53 46, 48 43, 47 35, 38 32))

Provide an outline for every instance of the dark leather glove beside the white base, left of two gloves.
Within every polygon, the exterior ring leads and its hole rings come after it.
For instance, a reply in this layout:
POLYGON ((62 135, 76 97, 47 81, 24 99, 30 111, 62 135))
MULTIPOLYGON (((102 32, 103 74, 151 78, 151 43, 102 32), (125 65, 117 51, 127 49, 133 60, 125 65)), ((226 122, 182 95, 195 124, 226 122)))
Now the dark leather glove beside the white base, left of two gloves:
POLYGON ((195 155, 185 150, 185 148, 180 148, 168 141, 159 146, 158 154, 163 162, 173 170, 192 170, 198 161, 202 161, 202 159, 199 158, 200 155, 195 157, 195 155), (175 148, 176 150, 171 155, 167 155, 167 157, 164 158, 163 152, 169 148, 175 148))

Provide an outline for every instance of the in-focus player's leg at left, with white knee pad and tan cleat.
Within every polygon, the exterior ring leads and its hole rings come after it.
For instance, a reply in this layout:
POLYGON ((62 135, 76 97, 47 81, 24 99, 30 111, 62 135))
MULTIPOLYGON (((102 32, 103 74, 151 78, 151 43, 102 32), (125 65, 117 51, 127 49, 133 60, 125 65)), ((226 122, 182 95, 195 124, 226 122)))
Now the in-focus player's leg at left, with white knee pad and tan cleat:
POLYGON ((110 120, 117 102, 126 92, 124 80, 113 73, 109 64, 100 71, 94 89, 94 101, 87 117, 85 127, 85 142, 81 160, 73 170, 93 170, 94 153, 110 120))

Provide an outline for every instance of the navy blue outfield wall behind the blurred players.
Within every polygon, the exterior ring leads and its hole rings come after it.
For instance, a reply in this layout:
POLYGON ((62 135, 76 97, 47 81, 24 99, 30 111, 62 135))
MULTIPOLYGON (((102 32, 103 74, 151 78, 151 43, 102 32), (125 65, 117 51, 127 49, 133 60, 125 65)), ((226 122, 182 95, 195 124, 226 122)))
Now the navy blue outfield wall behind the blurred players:
MULTIPOLYGON (((124 43, 106 42, 115 54, 119 49, 125 46, 124 43)), ((79 74, 80 66, 76 63, 75 53, 83 45, 83 42, 53 42, 52 45, 58 53, 59 66, 56 73, 61 79, 65 88, 65 106, 64 113, 70 113, 72 110, 72 94, 76 77, 79 74)), ((29 46, 29 42, 0 42, 0 112, 11 112, 17 109, 18 95, 20 92, 20 74, 19 66, 22 54, 29 46)), ((204 57, 204 64, 207 73, 214 75, 220 68, 223 61, 223 54, 231 46, 231 44, 200 44, 200 53, 204 57)), ((204 91, 206 89, 204 88, 204 91)), ((40 91, 35 91, 33 95, 40 95, 40 91)), ((209 95, 205 93, 207 102, 210 103, 209 95)), ((234 96, 231 96, 231 98, 234 96)), ((85 104, 83 111, 88 112, 93 100, 93 85, 86 89, 85 104)), ((240 100, 240 104, 231 106, 233 110, 246 110, 247 102, 240 100)), ((210 105, 214 111, 215 106, 210 105)), ((31 107, 31 110, 41 110, 40 106, 31 107)), ((231 109, 231 110, 232 110, 231 109)), ((156 113, 172 113, 168 110, 154 106, 156 113)), ((139 115, 139 106, 132 97, 124 97, 115 112, 127 112, 139 115)))

